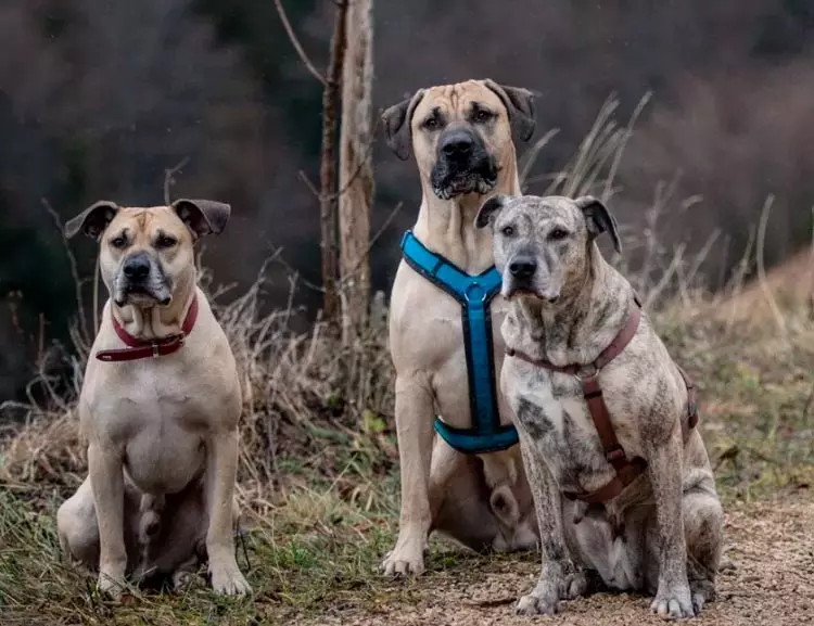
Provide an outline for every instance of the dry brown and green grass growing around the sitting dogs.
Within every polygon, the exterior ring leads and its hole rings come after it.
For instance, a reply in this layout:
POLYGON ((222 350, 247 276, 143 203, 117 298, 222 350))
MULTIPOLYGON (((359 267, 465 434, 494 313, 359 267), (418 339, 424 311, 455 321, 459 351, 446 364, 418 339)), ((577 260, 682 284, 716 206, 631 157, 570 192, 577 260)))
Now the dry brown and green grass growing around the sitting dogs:
MULTIPOLYGON (((615 171, 632 130, 613 119, 614 106, 609 101, 568 174, 552 177, 550 191, 612 196, 612 176, 600 173, 615 171)), ((805 489, 814 478, 809 310, 780 302, 783 332, 775 324, 752 328, 700 315, 751 288, 739 290, 735 280, 726 293, 709 296, 696 279, 703 258, 685 259, 681 250, 667 254, 658 245, 658 216, 689 204, 674 200, 665 186, 646 237, 625 233, 647 259, 633 282, 671 352, 701 387, 701 427, 725 501, 805 489)), ((56 379, 43 365, 34 387, 47 401, 11 407, 24 410, 25 421, 8 427, 0 442, 4 624, 107 624, 114 616, 122 624, 292 624, 327 614, 344 621, 424 601, 445 580, 536 561, 533 554, 476 557, 433 539, 429 577, 378 577, 374 568, 392 547, 397 519, 386 311, 373 315, 352 345, 319 322, 296 332, 291 306, 260 314, 262 276, 239 297, 214 290, 208 274, 202 279, 244 385, 239 497, 246 532, 239 562, 255 593, 217 598, 201 579, 183 593, 132 589, 118 605, 99 597, 90 576, 62 562, 54 511, 86 473, 73 406, 87 346, 77 342, 69 375, 56 379)))

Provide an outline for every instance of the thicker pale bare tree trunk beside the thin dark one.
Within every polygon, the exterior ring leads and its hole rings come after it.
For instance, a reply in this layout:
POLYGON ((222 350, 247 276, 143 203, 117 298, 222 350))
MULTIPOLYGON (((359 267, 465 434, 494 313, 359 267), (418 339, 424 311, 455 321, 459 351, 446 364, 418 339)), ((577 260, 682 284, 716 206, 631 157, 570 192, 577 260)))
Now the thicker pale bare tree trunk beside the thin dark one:
POLYGON ((340 277, 343 337, 361 331, 370 305, 370 153, 373 80, 373 0, 346 0, 347 49, 342 73, 340 130, 340 277))

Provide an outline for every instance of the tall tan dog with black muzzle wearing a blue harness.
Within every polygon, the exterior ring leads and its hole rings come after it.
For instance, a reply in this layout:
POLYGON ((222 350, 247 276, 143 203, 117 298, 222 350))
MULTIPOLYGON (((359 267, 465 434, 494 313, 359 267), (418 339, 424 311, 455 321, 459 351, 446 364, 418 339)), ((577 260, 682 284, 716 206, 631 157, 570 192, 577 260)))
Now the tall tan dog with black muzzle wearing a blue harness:
POLYGON ((520 191, 514 141, 534 132, 534 102, 525 89, 470 80, 420 89, 383 122, 399 158, 415 154, 422 191, 390 308, 402 512, 384 572, 419 574, 433 529, 476 550, 536 545, 517 432, 496 384, 500 276, 491 234, 473 225, 485 199, 520 191))

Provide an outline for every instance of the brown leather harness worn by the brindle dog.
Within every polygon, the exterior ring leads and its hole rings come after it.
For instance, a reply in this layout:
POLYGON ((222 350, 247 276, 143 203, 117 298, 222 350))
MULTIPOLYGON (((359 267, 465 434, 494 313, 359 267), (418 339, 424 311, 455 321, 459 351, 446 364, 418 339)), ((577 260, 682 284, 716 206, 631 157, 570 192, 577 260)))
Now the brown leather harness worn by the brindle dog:
MULTIPOLYGON (((608 407, 605 404, 605 398, 602 396, 602 388, 599 385, 599 372, 609 362, 622 354, 625 346, 631 343, 631 340, 633 340, 636 334, 640 319, 641 304, 638 297, 634 296, 634 301, 629 305, 629 315, 624 328, 613 338, 610 345, 601 352, 597 359, 587 366, 571 365, 560 367, 555 366, 547 359, 534 359, 529 355, 512 348, 506 350, 507 356, 519 358, 539 368, 571 374, 576 376, 582 383, 583 397, 588 404, 590 418, 594 421, 594 426, 596 427, 597 433, 599 433, 599 439, 602 442, 605 458, 613 467, 616 475, 608 484, 595 491, 587 494, 565 491, 563 495, 569 500, 581 500, 589 503, 601 503, 611 500, 619 496, 624 488, 643 474, 647 468, 647 461, 641 457, 634 457, 633 459, 627 458, 627 453, 619 443, 616 433, 613 431, 613 424, 611 423, 608 407)), ((678 367, 678 365, 675 367, 678 369, 678 372, 684 379, 684 384, 687 386, 687 425, 689 429, 694 429, 698 423, 696 389, 687 373, 678 367)))

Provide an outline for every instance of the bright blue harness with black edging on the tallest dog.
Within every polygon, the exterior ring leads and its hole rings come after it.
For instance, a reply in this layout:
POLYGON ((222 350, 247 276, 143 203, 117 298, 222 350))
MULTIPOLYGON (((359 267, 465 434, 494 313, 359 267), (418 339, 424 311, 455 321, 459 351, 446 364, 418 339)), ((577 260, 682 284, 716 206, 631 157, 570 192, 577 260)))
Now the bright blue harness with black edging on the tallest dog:
POLYGON ((518 432, 513 424, 500 425, 488 315, 489 303, 500 291, 500 273, 493 266, 479 276, 470 276, 427 250, 409 230, 402 238, 402 254, 407 265, 461 306, 472 427, 455 429, 436 417, 435 432, 456 450, 470 455, 510 448, 518 443, 518 432))

